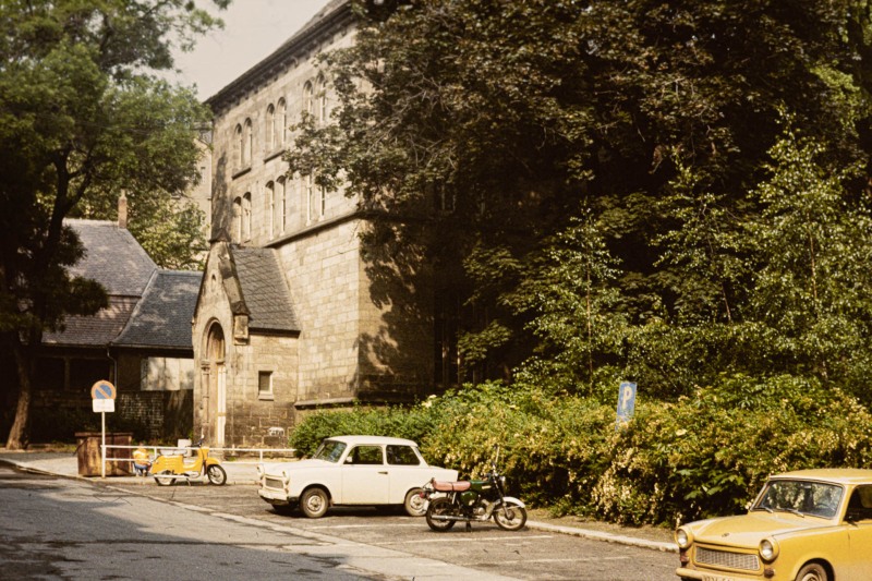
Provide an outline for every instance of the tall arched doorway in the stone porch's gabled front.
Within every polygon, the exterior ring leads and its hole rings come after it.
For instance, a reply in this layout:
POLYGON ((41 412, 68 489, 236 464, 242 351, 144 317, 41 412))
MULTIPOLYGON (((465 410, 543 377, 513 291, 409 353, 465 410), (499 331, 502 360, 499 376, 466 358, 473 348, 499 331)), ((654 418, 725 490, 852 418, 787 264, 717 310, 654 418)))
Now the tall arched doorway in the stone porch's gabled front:
POLYGON ((206 335, 206 361, 203 362, 203 431, 215 448, 225 445, 227 425, 227 343, 225 331, 217 322, 209 326, 206 335))

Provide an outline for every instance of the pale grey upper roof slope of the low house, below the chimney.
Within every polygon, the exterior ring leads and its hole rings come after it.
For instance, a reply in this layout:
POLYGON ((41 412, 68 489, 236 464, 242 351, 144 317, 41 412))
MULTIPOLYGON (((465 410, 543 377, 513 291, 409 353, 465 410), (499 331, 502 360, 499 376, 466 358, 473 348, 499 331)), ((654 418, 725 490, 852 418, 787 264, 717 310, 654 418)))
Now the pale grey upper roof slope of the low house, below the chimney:
POLYGON ((126 229, 101 220, 64 220, 87 254, 70 271, 96 280, 107 294, 142 296, 157 265, 126 229))

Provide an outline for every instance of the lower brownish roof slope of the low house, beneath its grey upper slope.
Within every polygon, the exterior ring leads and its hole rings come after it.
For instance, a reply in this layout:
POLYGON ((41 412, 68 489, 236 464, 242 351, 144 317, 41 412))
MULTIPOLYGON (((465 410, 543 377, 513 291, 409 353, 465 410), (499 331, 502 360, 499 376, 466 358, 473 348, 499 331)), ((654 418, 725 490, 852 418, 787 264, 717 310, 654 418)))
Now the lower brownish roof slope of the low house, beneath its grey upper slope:
POLYGON ((109 307, 101 308, 92 317, 70 316, 64 320, 64 330, 46 331, 43 344, 57 347, 108 346, 124 328, 138 296, 110 296, 109 307))

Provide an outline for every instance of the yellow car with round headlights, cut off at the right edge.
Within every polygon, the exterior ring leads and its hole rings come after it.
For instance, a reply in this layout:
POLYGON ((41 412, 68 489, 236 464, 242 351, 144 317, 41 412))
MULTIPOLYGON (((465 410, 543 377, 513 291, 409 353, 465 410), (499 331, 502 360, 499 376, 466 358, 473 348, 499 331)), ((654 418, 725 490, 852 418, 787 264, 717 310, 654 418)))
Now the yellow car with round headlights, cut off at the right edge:
POLYGON ((872 580, 872 470, 771 476, 748 515, 675 532, 681 579, 872 580))

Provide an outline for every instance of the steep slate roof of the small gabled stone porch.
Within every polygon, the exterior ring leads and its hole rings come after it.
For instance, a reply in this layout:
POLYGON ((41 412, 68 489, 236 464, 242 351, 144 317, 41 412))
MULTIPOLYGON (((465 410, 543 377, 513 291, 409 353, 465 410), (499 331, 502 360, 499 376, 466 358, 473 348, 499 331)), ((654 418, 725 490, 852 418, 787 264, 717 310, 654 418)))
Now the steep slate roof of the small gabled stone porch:
POLYGON ((234 247, 232 253, 242 300, 250 315, 249 329, 299 332, 300 324, 276 251, 234 247))

